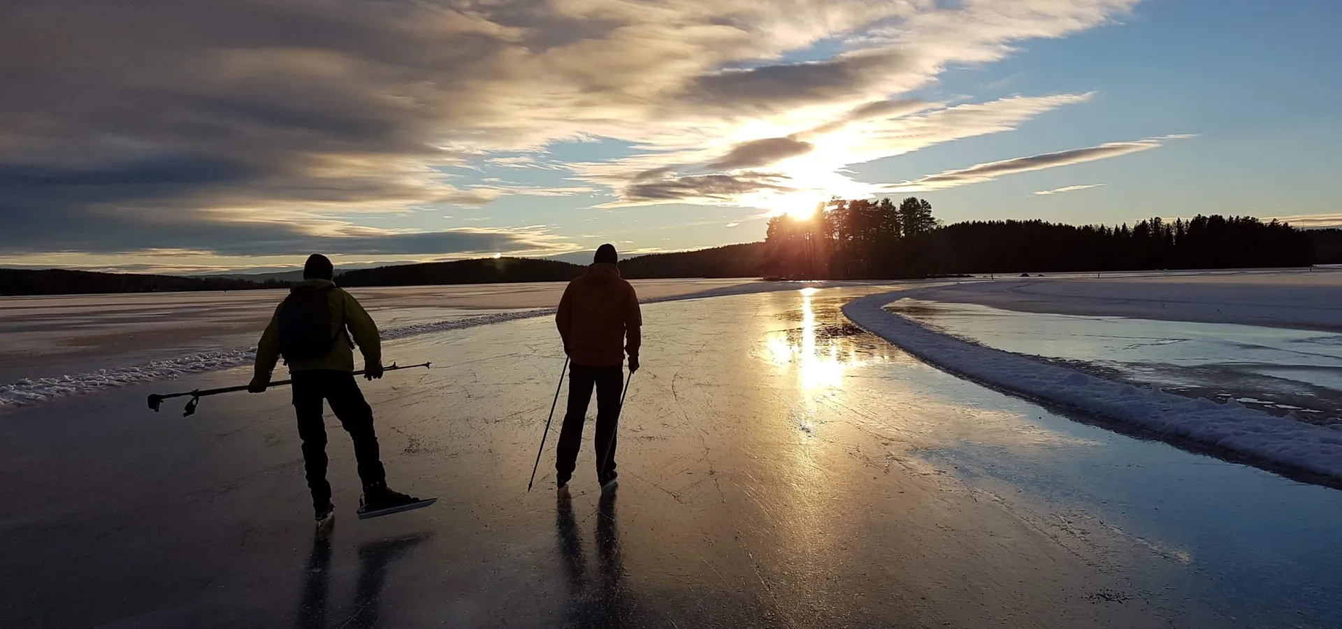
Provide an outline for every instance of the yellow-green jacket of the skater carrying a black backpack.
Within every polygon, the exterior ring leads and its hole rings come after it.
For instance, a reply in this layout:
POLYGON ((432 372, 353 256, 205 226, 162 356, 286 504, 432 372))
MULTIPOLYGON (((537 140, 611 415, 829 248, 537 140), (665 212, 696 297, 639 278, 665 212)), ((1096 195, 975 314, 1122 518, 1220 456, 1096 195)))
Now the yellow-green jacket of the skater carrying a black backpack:
MULTIPOLYGON (((294 286, 294 288, 303 286, 326 287, 336 284, 325 279, 305 279, 294 286)), ((331 307, 331 330, 348 329, 349 334, 353 337, 353 342, 358 343, 360 353, 364 354, 364 365, 381 365, 381 338, 377 335, 377 323, 373 323, 373 318, 368 315, 368 311, 358 304, 358 300, 356 300, 353 295, 340 288, 327 291, 326 299, 330 300, 331 307)), ((331 345, 330 353, 326 355, 321 358, 293 361, 289 363, 289 370, 310 371, 315 369, 331 369, 337 371, 353 371, 353 343, 349 342, 349 337, 345 337, 345 341, 337 339, 336 343, 331 345)), ((260 341, 256 343, 256 377, 270 378, 270 373, 275 369, 275 362, 278 361, 279 307, 276 306, 275 314, 270 318, 270 325, 266 326, 266 331, 262 333, 260 341)))

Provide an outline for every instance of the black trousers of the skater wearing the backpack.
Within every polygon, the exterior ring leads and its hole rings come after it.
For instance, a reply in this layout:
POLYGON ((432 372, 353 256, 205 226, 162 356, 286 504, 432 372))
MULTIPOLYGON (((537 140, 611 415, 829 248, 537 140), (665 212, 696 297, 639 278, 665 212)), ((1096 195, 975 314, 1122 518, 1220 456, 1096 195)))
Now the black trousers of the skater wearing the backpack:
POLYGON ((326 481, 326 421, 322 420, 322 401, 354 440, 354 459, 364 487, 382 484, 386 472, 377 456, 377 433, 373 432, 373 409, 364 401, 354 374, 318 369, 294 371, 294 412, 298 414, 298 436, 303 440, 303 461, 307 465, 307 488, 313 491, 313 504, 323 506, 331 498, 326 481))

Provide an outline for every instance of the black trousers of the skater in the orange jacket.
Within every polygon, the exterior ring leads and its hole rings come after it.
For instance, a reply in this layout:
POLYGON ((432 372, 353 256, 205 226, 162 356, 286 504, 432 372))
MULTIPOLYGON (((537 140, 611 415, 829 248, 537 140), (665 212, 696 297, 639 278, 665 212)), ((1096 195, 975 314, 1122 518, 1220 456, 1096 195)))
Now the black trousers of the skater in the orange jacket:
POLYGON ((624 384, 624 365, 589 367, 573 365, 569 370, 569 409, 560 431, 560 452, 554 460, 557 480, 568 483, 577 467, 578 447, 582 444, 582 422, 596 385, 596 475, 604 480, 615 472, 615 426, 620 418, 620 385, 624 384), (605 456, 605 461, 601 456, 605 456), (605 464, 603 469, 601 464, 605 464))

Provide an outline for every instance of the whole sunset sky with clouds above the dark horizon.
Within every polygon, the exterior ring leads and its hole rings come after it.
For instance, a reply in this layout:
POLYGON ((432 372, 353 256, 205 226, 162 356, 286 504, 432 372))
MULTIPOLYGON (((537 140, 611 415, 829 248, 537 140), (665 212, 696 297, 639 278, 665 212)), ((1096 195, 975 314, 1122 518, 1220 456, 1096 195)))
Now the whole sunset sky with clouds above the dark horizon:
POLYGON ((201 272, 939 219, 1342 223, 1337 0, 17 0, 0 266, 201 272))

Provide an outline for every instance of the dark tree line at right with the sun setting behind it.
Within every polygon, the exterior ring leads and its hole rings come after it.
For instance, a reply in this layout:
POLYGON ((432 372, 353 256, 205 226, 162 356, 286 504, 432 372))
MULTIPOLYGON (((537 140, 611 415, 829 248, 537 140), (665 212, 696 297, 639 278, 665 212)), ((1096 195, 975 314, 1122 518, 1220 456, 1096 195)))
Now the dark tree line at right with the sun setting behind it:
POLYGON ((809 217, 770 219, 766 275, 891 279, 961 274, 1307 267, 1311 237, 1251 216, 1159 217, 1127 224, 1041 220, 942 225, 931 204, 909 197, 832 200, 809 217))

